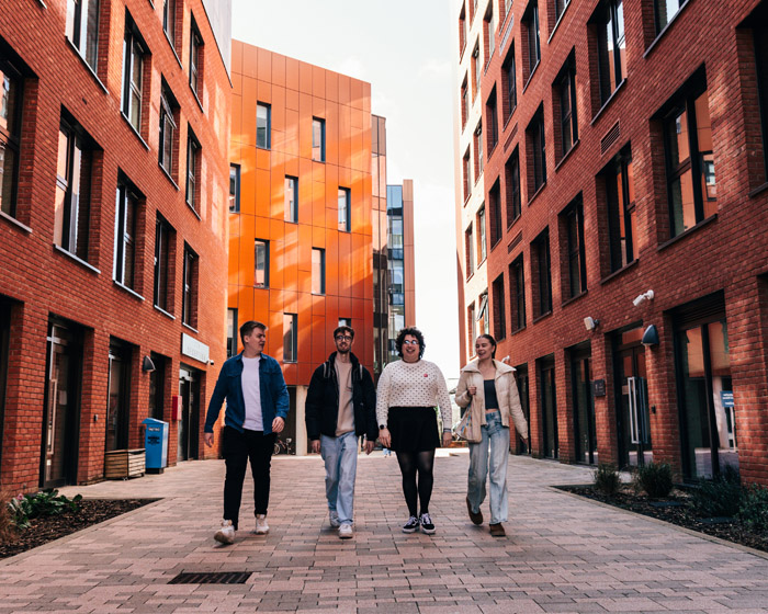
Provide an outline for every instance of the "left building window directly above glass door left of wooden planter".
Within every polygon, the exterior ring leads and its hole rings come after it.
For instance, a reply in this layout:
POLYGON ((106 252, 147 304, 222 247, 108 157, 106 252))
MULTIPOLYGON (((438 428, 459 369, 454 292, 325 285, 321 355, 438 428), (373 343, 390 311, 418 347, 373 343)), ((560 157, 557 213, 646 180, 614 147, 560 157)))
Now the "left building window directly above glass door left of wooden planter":
POLYGON ((82 128, 63 118, 58 133, 54 242, 88 261, 93 146, 82 128))

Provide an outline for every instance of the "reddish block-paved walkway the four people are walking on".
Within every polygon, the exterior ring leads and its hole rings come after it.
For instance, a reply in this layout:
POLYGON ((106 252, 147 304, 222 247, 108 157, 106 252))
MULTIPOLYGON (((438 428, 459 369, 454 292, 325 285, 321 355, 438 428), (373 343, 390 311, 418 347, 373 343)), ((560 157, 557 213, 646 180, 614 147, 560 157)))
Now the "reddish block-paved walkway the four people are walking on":
POLYGON ((212 539, 222 462, 65 489, 163 499, 0 561, 0 612, 768 613, 768 557, 550 488, 589 481, 585 467, 512 457, 513 520, 492 538, 467 519, 466 466, 465 453, 436 462, 431 537, 399 530, 394 457, 361 457, 357 534, 345 542, 328 525, 317 457, 275 458, 270 534, 241 531, 227 547, 212 539), (168 584, 181 571, 252 576, 168 584))

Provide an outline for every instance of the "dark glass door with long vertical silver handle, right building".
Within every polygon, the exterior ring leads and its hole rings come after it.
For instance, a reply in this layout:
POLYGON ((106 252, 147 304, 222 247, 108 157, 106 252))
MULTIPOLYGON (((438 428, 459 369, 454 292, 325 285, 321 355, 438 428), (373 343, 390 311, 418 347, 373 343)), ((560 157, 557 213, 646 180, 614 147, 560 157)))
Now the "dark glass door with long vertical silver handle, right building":
POLYGON ((636 467, 653 461, 645 349, 640 342, 642 338, 643 329, 637 327, 617 333, 613 340, 621 467, 636 467))

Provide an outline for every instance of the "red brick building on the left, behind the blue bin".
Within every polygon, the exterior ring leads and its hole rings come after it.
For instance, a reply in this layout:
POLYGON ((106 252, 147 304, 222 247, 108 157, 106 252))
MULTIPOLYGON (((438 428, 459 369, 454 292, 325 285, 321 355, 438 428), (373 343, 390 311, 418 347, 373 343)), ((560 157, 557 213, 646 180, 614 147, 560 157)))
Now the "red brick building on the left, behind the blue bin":
POLYGON ((214 13, 3 2, 3 489, 101 479, 148 416, 170 421, 170 464, 212 455, 230 116, 228 4, 214 13))

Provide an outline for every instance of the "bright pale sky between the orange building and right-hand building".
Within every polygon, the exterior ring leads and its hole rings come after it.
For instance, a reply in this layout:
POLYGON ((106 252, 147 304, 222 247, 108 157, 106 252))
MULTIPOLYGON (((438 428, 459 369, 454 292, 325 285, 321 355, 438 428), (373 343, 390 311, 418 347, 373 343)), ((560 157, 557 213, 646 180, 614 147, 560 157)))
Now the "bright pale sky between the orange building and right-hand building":
POLYGON ((447 378, 459 377, 454 4, 234 0, 231 33, 371 83, 371 112, 386 117, 387 183, 414 180, 416 326, 425 334, 425 359, 447 378))

